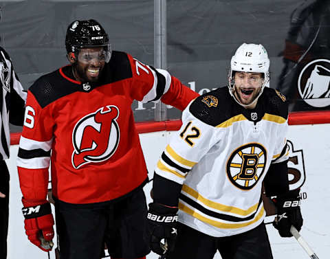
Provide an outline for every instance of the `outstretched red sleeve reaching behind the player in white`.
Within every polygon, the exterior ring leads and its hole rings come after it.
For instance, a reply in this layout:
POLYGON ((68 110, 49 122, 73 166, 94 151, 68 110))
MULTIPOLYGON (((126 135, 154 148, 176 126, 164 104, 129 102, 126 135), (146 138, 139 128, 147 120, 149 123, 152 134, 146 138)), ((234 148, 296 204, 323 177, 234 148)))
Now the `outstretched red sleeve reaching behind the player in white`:
POLYGON ((133 73, 133 99, 142 102, 158 102, 175 106, 183 111, 191 100, 199 96, 164 69, 144 65, 129 56, 133 73))

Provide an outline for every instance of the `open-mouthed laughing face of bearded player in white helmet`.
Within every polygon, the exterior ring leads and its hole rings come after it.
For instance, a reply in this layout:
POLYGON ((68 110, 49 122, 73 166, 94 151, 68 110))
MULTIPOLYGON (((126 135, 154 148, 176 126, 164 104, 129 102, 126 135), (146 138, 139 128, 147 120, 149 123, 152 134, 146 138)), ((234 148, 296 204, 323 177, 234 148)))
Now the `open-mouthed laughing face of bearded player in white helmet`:
POLYGON ((234 75, 234 96, 236 100, 246 109, 254 109, 256 102, 253 102, 259 95, 263 85, 262 73, 250 73, 236 71, 234 75))

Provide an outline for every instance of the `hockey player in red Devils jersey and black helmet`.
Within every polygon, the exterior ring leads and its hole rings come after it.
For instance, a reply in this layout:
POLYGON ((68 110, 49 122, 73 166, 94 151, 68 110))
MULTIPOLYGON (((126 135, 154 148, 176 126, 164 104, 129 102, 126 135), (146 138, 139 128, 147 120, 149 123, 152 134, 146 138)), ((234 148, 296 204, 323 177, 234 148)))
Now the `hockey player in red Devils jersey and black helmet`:
POLYGON ((167 71, 111 51, 95 20, 74 21, 65 39, 70 65, 41 76, 28 91, 17 166, 25 232, 44 251, 54 237, 61 259, 144 258, 147 171, 131 104, 162 100, 183 110, 197 93, 167 71), (46 243, 47 244, 47 243, 46 243))

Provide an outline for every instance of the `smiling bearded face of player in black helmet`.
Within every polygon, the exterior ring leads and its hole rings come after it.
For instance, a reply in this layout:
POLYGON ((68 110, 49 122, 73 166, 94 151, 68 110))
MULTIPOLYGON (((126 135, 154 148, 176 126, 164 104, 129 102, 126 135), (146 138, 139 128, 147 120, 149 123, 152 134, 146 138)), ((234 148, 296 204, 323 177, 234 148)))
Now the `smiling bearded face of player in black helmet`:
POLYGON ((70 60, 76 80, 80 82, 97 82, 105 60, 106 52, 104 47, 80 49, 77 60, 70 60))

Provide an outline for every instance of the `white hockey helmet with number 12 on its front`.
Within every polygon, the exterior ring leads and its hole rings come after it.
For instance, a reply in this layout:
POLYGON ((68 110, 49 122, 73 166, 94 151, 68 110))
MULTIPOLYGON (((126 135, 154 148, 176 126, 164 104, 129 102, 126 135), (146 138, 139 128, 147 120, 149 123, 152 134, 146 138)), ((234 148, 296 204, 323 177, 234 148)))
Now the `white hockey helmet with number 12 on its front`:
MULTIPOLYGON (((235 71, 263 73, 264 80, 261 85, 259 95, 254 99, 256 102, 263 93, 265 87, 270 87, 270 59, 268 58, 267 51, 263 45, 243 43, 236 49, 234 56, 230 60, 230 71, 228 73, 228 88, 230 95, 234 97, 234 73, 235 71)), ((236 98, 234 97, 236 100, 236 98)), ((236 100, 236 102, 239 102, 236 100)), ((239 102, 241 104, 241 102, 239 102)), ((242 106, 247 106, 241 104, 242 106)), ((249 104, 250 105, 250 104, 249 104)))

